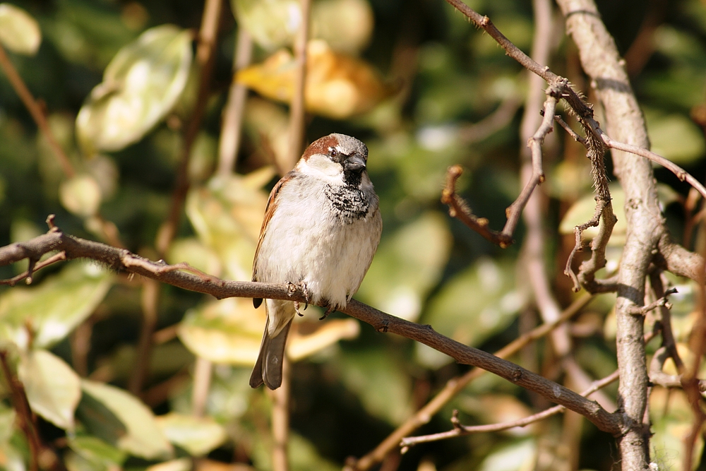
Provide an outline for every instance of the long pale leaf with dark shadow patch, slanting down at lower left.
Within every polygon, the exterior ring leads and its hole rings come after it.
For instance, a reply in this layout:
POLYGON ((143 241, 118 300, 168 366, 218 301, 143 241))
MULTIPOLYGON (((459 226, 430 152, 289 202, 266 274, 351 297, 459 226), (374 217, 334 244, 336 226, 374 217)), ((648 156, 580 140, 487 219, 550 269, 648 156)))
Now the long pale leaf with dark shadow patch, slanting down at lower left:
MULTIPOLYGON (((93 407, 87 405, 85 410, 82 410, 83 400, 79 405, 83 417, 93 419, 90 426, 101 427, 100 418, 109 419, 109 429, 103 430, 102 436, 95 431, 94 434, 107 439, 108 443, 112 443, 120 450, 148 460, 166 458, 172 454, 172 446, 157 426, 155 415, 138 398, 115 386, 95 381, 83 380, 81 387, 84 396, 89 396, 93 400, 93 407), (95 403, 100 403, 104 409, 101 411, 99 407, 95 407, 95 403), (122 424, 124 433, 115 427, 114 419, 122 424)), ((86 425, 89 426, 89 424, 86 425)))

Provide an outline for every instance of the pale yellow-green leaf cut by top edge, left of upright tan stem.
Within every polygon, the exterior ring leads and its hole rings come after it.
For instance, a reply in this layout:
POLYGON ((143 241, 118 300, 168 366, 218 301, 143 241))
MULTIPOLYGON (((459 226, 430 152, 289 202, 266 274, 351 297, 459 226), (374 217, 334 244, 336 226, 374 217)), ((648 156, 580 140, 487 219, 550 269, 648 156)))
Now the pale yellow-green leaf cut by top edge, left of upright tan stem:
POLYGON ((292 44, 301 25, 298 0, 231 0, 238 24, 265 49, 292 44))

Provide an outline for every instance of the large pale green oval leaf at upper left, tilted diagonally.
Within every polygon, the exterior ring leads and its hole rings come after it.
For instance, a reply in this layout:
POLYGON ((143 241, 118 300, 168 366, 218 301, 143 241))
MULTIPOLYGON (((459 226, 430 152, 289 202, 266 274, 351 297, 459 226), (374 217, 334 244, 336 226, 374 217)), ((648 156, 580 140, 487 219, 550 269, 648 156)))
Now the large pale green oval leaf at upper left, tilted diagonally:
POLYGON ((174 107, 189 78, 191 32, 161 25, 123 47, 76 117, 85 153, 139 141, 174 107))

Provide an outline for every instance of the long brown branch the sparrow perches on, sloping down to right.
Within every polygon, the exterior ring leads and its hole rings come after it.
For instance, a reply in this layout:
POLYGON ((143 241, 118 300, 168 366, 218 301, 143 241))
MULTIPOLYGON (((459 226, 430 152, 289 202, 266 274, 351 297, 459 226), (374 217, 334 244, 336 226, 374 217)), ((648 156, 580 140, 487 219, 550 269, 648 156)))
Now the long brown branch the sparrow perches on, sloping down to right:
MULTIPOLYGON (((47 234, 35 237, 28 242, 11 244, 0 248, 0 266, 19 261, 28 256, 41 256, 47 251, 61 246, 66 252, 66 258, 91 258, 104 265, 122 272, 135 273, 147 278, 159 280, 186 290, 211 294, 222 299, 224 297, 261 297, 268 299, 288 299, 306 302, 304 292, 292 292, 289 285, 273 285, 260 282, 239 282, 220 280, 212 282, 203 280, 191 273, 170 270, 166 273, 161 268, 164 262, 152 262, 124 249, 90 242, 77 237, 63 234, 58 229, 52 229, 47 234)), ((325 304, 322 300, 321 304, 325 304)), ((598 404, 582 398, 572 390, 564 388, 554 381, 549 381, 538 374, 527 371, 512 362, 500 359, 482 350, 478 350, 437 333, 431 326, 422 326, 402 318, 390 316, 378 309, 352 300, 343 311, 345 314, 369 323, 378 332, 390 332, 403 337, 417 340, 434 350, 448 354, 461 364, 478 366, 487 371, 511 381, 517 386, 533 390, 552 402, 566 405, 570 410, 584 415, 599 429, 611 434, 620 434, 623 425, 616 416, 606 412, 598 404)))

